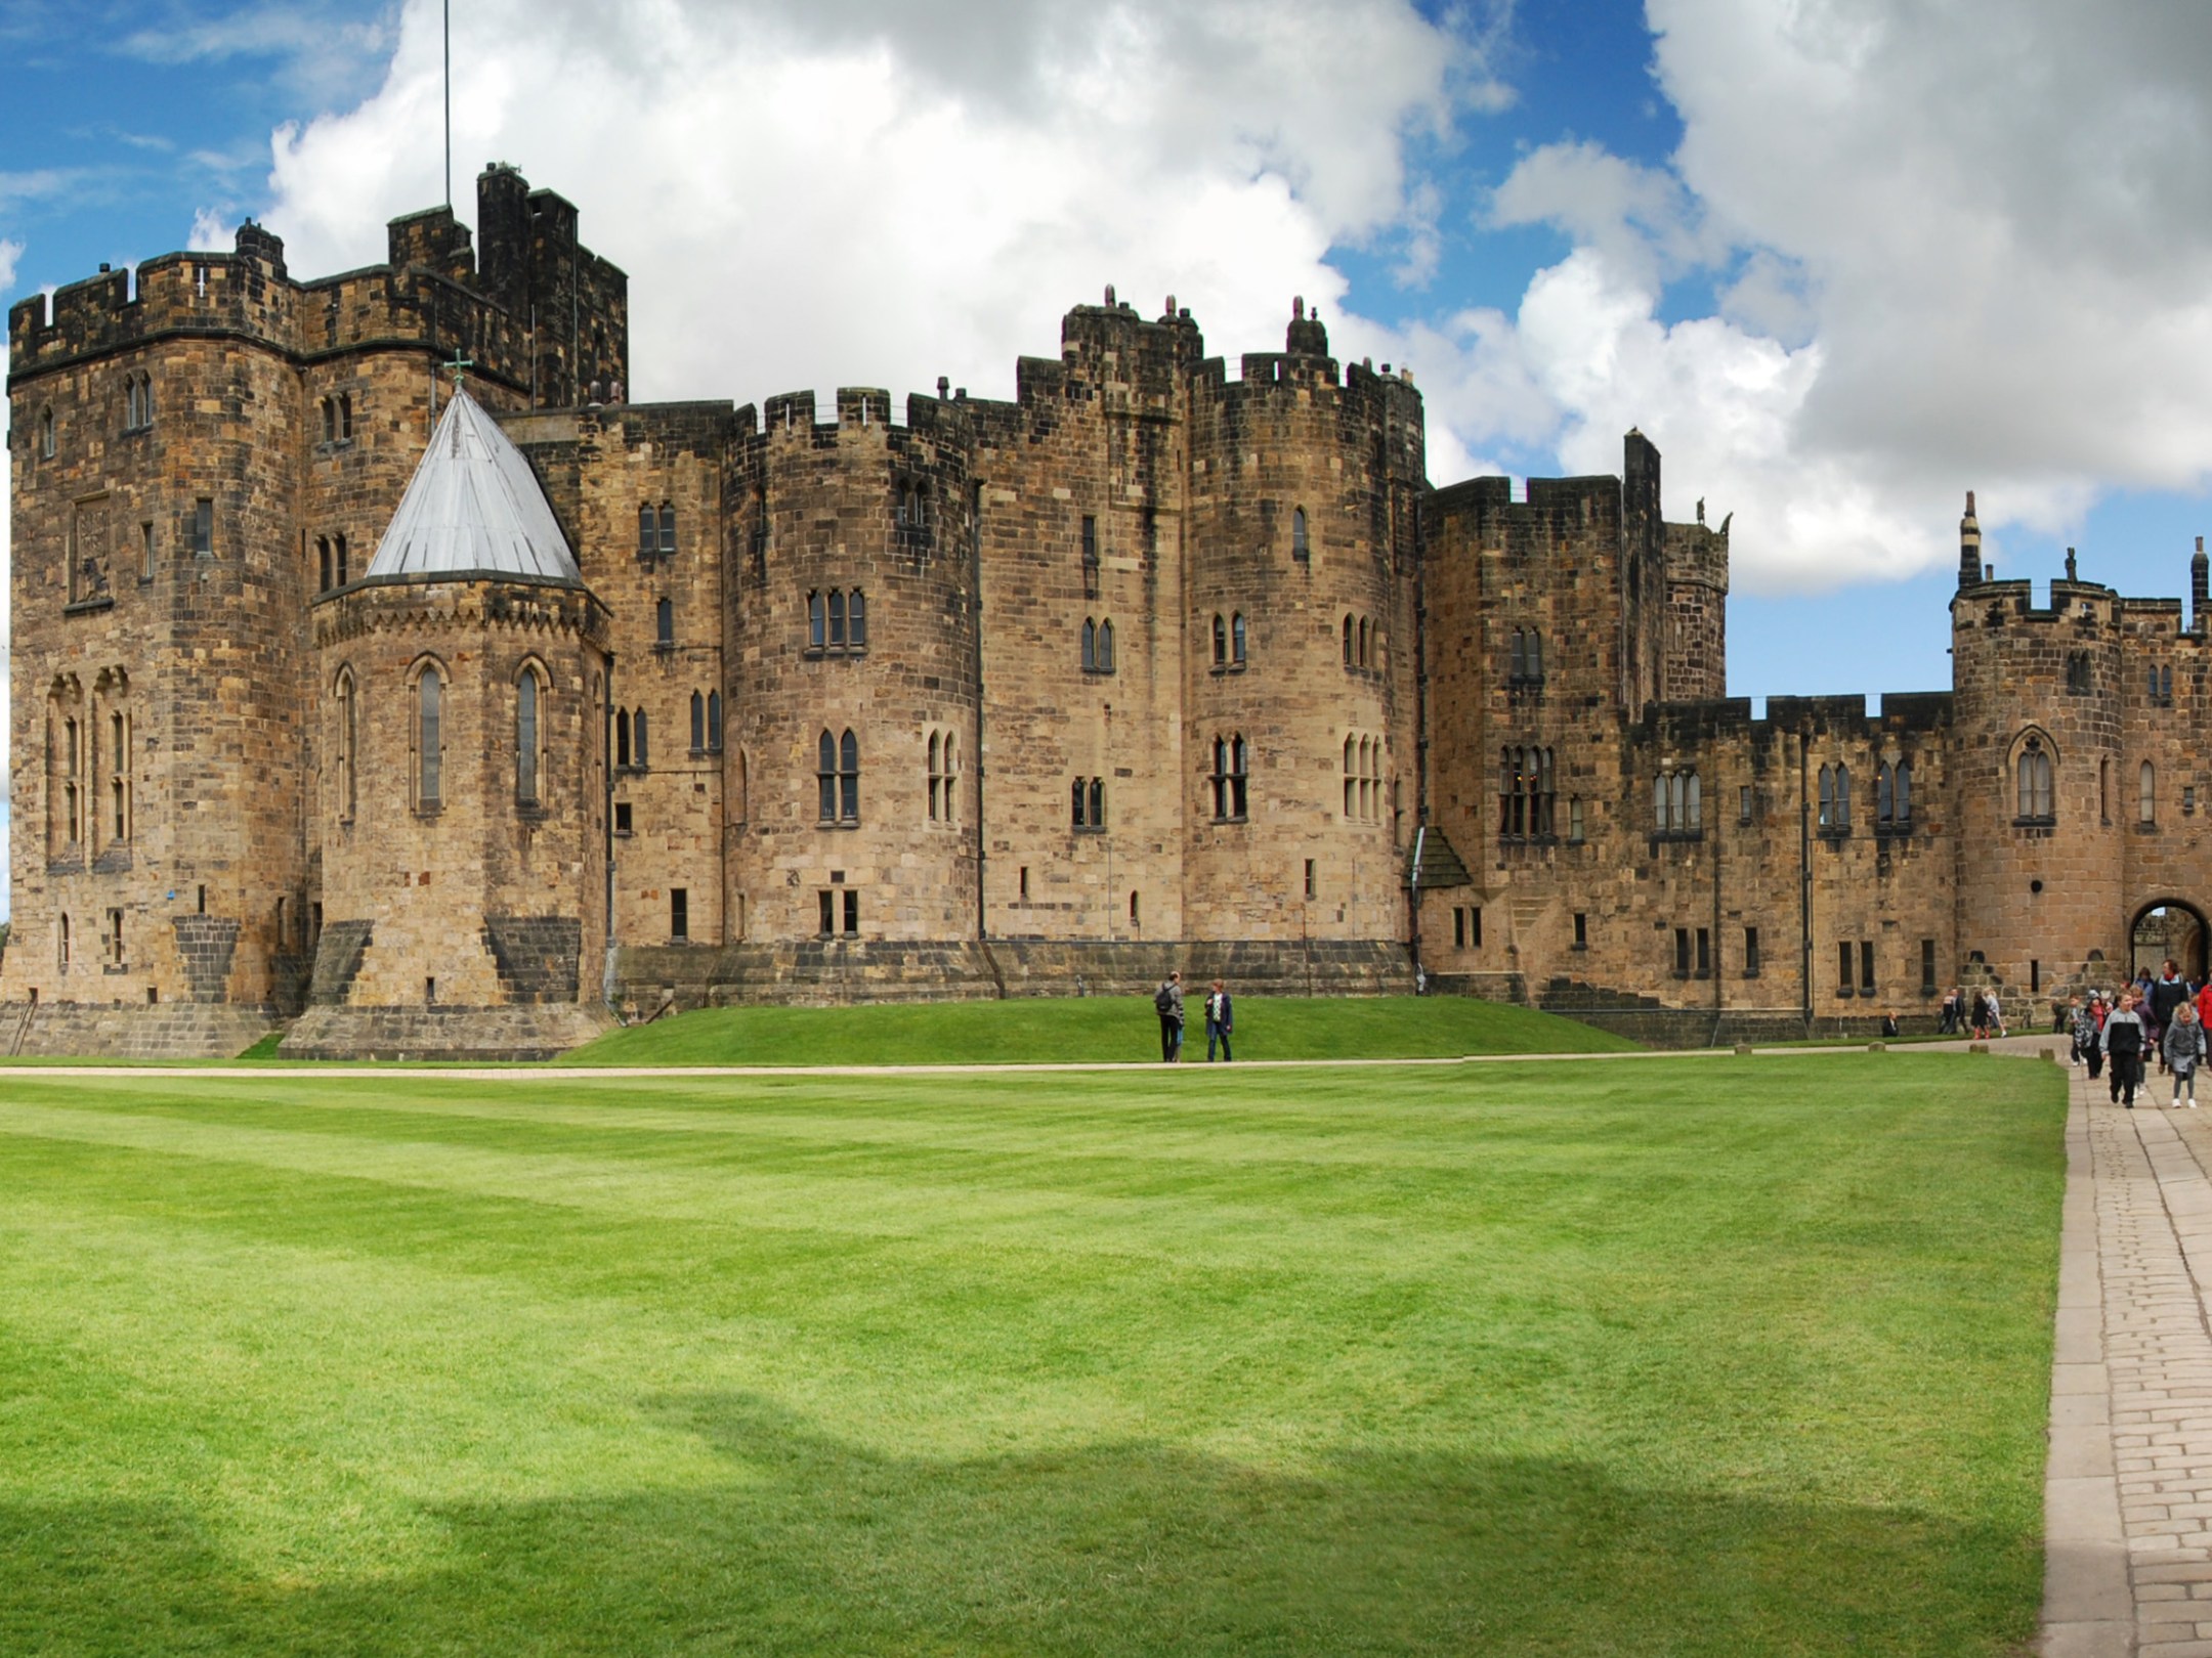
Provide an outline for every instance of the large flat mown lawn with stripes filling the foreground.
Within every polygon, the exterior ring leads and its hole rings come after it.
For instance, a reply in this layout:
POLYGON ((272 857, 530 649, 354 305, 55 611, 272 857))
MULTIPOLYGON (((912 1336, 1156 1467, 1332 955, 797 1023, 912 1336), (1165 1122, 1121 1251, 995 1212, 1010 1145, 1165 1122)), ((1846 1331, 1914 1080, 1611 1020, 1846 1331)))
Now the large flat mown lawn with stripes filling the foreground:
POLYGON ((2002 1654, 2064 1072, 0 1094, 4 1654, 2002 1654))

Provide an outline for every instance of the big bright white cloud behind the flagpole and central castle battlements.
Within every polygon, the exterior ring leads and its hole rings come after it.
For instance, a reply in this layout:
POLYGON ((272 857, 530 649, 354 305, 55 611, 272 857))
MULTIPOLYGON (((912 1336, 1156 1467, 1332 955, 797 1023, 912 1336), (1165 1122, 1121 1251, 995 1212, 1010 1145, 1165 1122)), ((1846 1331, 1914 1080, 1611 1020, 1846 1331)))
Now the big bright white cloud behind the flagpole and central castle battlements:
MULTIPOLYGON (((484 0, 453 27, 462 217, 487 159, 580 203, 635 279, 641 398, 1009 396, 1108 281, 1267 347, 1294 292, 1334 309, 1334 243, 1418 228, 1402 139, 1489 84, 1400 0, 484 0)), ((414 0, 376 95, 276 137, 294 270, 380 259, 380 219, 442 197, 438 122, 414 0)))

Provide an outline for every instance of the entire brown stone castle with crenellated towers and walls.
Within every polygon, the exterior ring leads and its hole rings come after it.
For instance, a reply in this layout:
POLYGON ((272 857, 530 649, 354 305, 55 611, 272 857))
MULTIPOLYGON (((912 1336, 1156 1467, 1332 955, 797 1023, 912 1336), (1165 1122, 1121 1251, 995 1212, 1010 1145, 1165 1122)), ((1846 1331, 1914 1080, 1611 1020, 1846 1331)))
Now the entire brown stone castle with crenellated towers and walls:
POLYGON ((1728 524, 1639 433, 1431 489, 1409 374, 1294 305, 1232 378, 1113 290, 1011 402, 633 405, 575 208, 493 166, 476 223, 11 307, 11 1050, 549 1054, 1170 966, 1710 1041, 2203 970, 2201 550, 2188 626, 2070 568, 2039 608, 1969 497, 1953 690, 1754 721, 1728 524))

